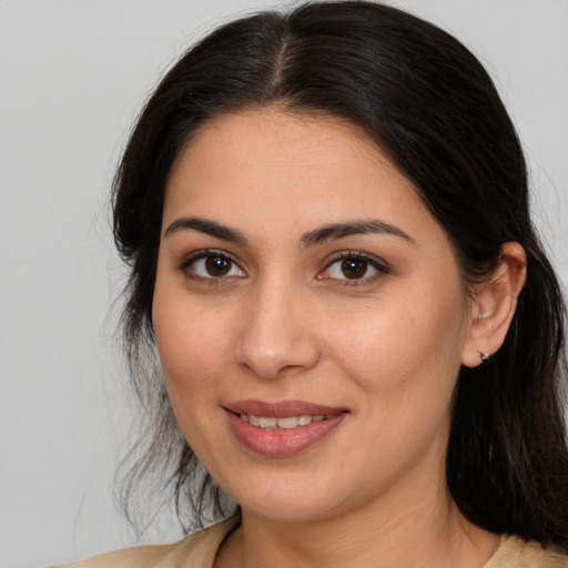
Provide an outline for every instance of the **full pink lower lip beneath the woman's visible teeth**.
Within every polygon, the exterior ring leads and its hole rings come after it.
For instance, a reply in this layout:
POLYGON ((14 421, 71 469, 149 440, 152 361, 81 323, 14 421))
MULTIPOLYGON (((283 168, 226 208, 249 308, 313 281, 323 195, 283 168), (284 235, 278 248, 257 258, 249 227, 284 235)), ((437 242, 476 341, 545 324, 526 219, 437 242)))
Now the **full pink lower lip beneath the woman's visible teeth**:
POLYGON ((270 457, 292 456, 314 446, 331 434, 347 416, 347 413, 341 413, 333 418, 313 422, 297 428, 264 429, 251 426, 229 410, 226 414, 239 442, 252 452, 270 457))

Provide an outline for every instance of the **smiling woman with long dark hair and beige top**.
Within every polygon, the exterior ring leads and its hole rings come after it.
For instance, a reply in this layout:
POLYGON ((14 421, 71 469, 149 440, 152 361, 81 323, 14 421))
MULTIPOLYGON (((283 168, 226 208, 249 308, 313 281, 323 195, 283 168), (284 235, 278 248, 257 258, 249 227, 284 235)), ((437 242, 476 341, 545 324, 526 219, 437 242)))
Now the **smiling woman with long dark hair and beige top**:
POLYGON ((455 39, 368 2, 219 29, 142 112, 114 231, 139 471, 229 519, 75 566, 568 566, 565 306, 455 39))

